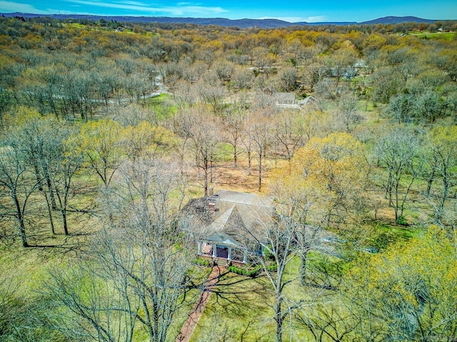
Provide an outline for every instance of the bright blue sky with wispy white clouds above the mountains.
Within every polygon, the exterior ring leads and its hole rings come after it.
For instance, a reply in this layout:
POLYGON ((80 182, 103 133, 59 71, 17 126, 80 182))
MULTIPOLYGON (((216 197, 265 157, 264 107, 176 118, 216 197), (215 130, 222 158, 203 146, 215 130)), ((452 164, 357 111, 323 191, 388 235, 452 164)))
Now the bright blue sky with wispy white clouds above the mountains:
POLYGON ((0 0, 0 13, 368 21, 383 16, 457 19, 457 0, 0 0))

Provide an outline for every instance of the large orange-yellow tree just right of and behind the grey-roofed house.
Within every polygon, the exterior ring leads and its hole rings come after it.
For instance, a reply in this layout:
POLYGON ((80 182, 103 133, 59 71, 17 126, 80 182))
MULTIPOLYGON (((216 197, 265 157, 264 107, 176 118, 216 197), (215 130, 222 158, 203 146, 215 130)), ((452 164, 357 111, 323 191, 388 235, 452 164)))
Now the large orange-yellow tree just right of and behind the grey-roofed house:
POLYGON ((358 200, 367 170, 361 143, 348 133, 331 133, 297 150, 290 167, 278 171, 275 180, 283 191, 303 197, 309 205, 308 219, 319 222, 358 200))

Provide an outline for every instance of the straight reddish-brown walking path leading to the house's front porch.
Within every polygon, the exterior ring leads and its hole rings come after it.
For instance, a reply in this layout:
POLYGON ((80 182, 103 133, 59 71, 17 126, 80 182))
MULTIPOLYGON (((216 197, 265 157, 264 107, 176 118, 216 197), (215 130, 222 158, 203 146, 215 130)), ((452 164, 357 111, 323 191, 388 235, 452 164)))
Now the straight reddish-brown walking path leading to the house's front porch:
POLYGON ((201 314, 203 314, 206 304, 208 304, 209 298, 213 293, 212 289, 219 281, 221 271, 224 271, 224 269, 225 267, 217 265, 213 266, 213 269, 211 269, 211 274, 209 274, 208 276, 205 288, 203 289, 203 292, 201 293, 199 300, 194 305, 194 308, 192 308, 189 316, 187 316, 187 319, 184 322, 178 337, 176 338, 176 342, 189 342, 189 340, 191 339, 192 333, 194 332, 197 323, 199 323, 201 314))

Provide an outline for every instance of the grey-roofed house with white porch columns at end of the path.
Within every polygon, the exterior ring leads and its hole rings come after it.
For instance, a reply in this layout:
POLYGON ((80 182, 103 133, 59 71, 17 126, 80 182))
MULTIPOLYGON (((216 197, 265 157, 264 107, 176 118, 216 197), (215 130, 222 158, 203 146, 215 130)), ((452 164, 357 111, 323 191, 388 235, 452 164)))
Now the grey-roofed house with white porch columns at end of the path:
POLYGON ((181 212, 181 227, 196 237, 198 254, 227 264, 246 264, 248 254, 262 254, 260 239, 273 217, 273 201, 221 190, 191 199, 181 212))

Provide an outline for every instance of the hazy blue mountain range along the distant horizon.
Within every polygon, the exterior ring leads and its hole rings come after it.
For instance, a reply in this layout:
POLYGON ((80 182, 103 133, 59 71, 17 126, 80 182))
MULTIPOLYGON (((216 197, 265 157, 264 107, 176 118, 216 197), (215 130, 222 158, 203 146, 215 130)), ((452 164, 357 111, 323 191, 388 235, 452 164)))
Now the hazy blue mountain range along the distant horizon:
POLYGON ((91 16, 84 14, 29 14, 29 13, 3 13, 1 16, 6 17, 24 17, 24 18, 36 18, 36 17, 49 17, 51 19, 90 19, 98 21, 104 19, 106 21, 119 21, 119 22, 142 22, 142 23, 161 23, 161 24, 195 24, 195 25, 216 25, 216 26, 236 26, 239 28, 279 28, 288 26, 301 26, 301 25, 363 25, 363 24, 400 24, 404 22, 416 22, 416 23, 434 23, 438 20, 422 19, 416 16, 385 16, 383 18, 373 19, 370 21, 363 21, 357 23, 355 21, 328 21, 318 23, 307 23, 301 21, 298 23, 290 23, 288 21, 278 19, 225 19, 225 18, 173 18, 169 16, 91 16))

